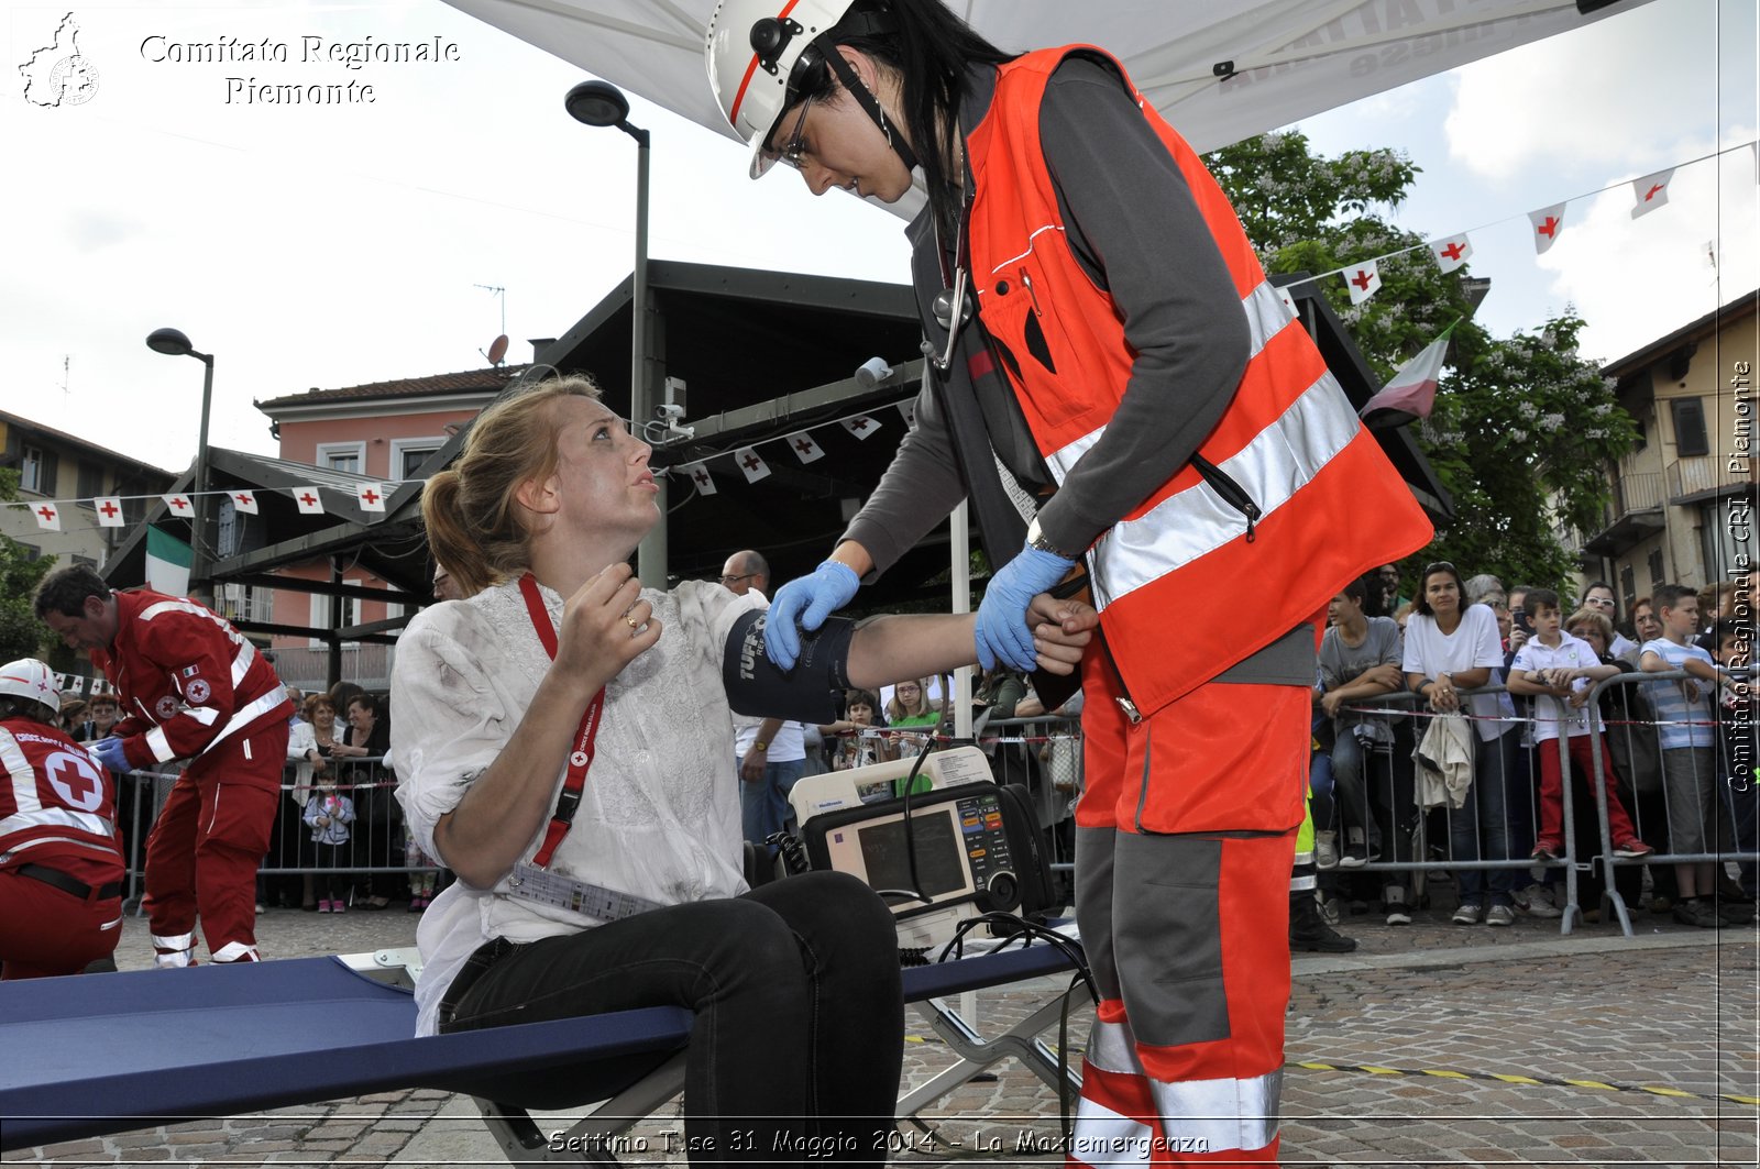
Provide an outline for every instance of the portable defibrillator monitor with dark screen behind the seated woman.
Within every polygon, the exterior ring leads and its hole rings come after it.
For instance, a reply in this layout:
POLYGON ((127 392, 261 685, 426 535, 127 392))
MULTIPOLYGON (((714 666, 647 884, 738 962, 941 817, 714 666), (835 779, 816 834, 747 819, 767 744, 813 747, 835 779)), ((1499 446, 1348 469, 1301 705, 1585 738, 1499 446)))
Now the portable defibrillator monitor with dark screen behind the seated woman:
POLYGON ((840 808, 803 827, 811 868, 850 873, 898 919, 901 947, 942 945, 966 917, 1021 903, 1001 789, 991 782, 840 808))

